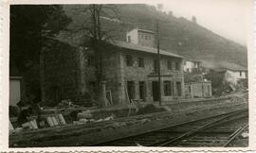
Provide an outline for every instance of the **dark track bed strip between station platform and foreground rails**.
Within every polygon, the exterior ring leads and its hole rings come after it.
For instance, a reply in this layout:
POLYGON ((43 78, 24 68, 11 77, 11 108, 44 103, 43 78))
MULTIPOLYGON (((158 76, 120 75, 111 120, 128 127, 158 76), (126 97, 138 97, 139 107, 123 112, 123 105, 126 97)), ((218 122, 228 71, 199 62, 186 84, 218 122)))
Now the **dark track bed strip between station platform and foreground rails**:
MULTIPOLYGON (((230 103, 229 105, 220 104, 220 105, 216 105, 216 106, 214 105, 208 108, 194 107, 194 108, 184 109, 176 112, 162 111, 162 112, 155 112, 155 113, 143 114, 143 115, 137 115, 137 116, 122 117, 122 118, 117 118, 115 120, 104 121, 100 123, 88 123, 88 124, 77 125, 77 126, 66 125, 64 127, 49 127, 46 129, 42 128, 38 130, 24 131, 24 132, 9 135, 9 146, 14 146, 14 145, 15 146, 28 146, 28 145, 29 146, 30 145, 45 146, 45 144, 48 146, 52 144, 49 142, 54 142, 57 140, 58 142, 63 142, 63 143, 59 143, 59 144, 53 143, 54 145, 52 146, 55 146, 55 145, 59 146, 59 145, 63 145, 64 143, 66 143, 65 145, 70 144, 70 141, 66 141, 66 138, 68 138, 68 140, 74 139, 73 145, 82 145, 82 146, 90 146, 90 145, 97 145, 97 144, 101 145, 102 143, 123 138, 122 134, 116 134, 115 131, 118 131, 118 133, 122 133, 126 130, 126 127, 127 127, 127 132, 124 132, 124 135, 127 137, 128 136, 130 137, 134 135, 141 135, 145 132, 149 133, 150 131, 153 131, 159 128, 169 127, 168 126, 169 122, 174 121, 174 123, 170 123, 174 126, 178 123, 184 123, 187 121, 195 120, 197 118, 196 116, 198 116, 198 118, 205 118, 203 117, 204 113, 206 113, 206 116, 213 116, 214 113, 223 114, 225 113, 225 111, 230 112, 232 110, 241 110, 243 108, 244 109, 247 108, 247 105, 245 105, 245 103, 235 103, 235 104, 230 103), (181 121, 176 121, 178 120, 178 116, 181 118, 181 121), (191 118, 191 119, 188 119, 188 118, 191 118), (142 122, 143 120, 147 120, 147 123, 142 122), (157 126, 156 122, 159 122, 161 126, 157 126), (154 125, 152 129, 150 128, 150 123, 153 123, 154 125), (141 127, 143 127, 144 125, 149 125, 149 127, 139 128, 139 125, 141 125, 141 127), (130 129, 132 129, 132 131, 130 131, 130 129), (105 130, 114 131, 114 133, 106 134, 104 133, 105 130), (98 135, 98 136, 95 137, 95 135, 98 135)), ((153 139, 155 138, 153 137, 153 139)), ((106 145, 113 145, 113 144, 106 144, 106 145)), ((115 143, 114 145, 122 145, 122 144, 115 143)), ((123 145, 133 146, 136 144, 134 141, 131 144, 123 144, 123 145)), ((142 145, 145 145, 145 144, 142 143, 142 145)))

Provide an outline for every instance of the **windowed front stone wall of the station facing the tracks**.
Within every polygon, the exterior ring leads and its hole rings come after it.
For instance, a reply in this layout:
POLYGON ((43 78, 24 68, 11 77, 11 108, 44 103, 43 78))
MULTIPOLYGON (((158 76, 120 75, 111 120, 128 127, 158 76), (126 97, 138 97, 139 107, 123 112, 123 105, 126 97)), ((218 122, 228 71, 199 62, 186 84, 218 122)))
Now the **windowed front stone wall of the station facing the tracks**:
MULTIPOLYGON (((144 53, 144 52, 138 52, 138 51, 131 51, 131 50, 122 50, 120 54, 120 60, 122 63, 122 77, 124 83, 127 81, 134 81, 135 82, 135 98, 139 98, 139 81, 145 81, 146 83, 146 101, 152 102, 153 101, 153 93, 152 93, 152 81, 157 81, 157 74, 154 73, 154 59, 157 59, 156 55, 144 53), (133 58, 133 66, 126 66, 126 55, 130 55, 133 58), (144 59, 144 66, 145 67, 138 67, 137 58, 143 58, 144 59)), ((160 60, 161 65, 161 93, 162 93, 162 99, 164 101, 170 101, 174 98, 183 98, 184 97, 184 76, 183 76, 183 60, 173 57, 167 57, 167 56, 161 56, 160 60), (167 67, 168 60, 171 60, 173 62, 173 70, 169 70, 167 67), (180 69, 179 71, 176 71, 174 68, 174 61, 179 61, 180 63, 180 69), (181 82, 181 89, 182 94, 181 96, 176 96, 176 90, 175 90, 175 84, 174 84, 174 94, 172 96, 164 96, 164 87, 163 82, 165 80, 169 80, 174 82, 181 82)), ((125 87, 123 87, 125 88, 125 87)), ((125 89, 122 89, 125 90, 125 89)), ((123 101, 126 98, 124 95, 122 97, 123 101)))

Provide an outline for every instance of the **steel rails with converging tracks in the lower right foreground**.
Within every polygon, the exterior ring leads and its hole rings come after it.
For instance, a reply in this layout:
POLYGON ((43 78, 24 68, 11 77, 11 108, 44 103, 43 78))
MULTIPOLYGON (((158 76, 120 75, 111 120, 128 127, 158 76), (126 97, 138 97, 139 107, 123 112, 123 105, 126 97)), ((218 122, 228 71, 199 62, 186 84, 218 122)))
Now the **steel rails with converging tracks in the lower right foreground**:
POLYGON ((247 110, 236 110, 210 118, 165 127, 150 132, 120 138, 97 146, 229 146, 247 128, 229 127, 239 121, 247 121, 247 110), (228 126, 228 127, 227 127, 228 126))

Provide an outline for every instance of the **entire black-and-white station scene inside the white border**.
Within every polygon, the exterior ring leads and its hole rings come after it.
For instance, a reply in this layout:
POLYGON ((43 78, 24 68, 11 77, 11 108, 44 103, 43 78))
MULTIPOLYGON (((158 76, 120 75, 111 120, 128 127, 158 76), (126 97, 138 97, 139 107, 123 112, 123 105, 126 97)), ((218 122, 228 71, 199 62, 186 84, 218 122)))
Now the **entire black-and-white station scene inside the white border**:
POLYGON ((10 4, 8 147, 248 148, 252 5, 10 4))

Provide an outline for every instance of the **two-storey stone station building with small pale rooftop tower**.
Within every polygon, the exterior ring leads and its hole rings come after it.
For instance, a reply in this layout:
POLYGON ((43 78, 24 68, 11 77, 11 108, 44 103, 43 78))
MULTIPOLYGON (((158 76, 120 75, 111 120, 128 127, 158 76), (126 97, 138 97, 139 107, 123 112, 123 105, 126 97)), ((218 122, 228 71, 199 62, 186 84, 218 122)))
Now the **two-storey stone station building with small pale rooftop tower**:
MULTIPOLYGON (((159 100, 157 50, 152 31, 134 29, 127 42, 110 42, 103 53, 103 76, 110 105, 127 104, 130 99, 159 100)), ((162 101, 184 98, 183 57, 160 50, 162 101)), ((85 93, 96 98, 97 82, 93 51, 89 47, 57 42, 44 50, 42 97, 57 104, 70 99, 89 103, 85 93)))

